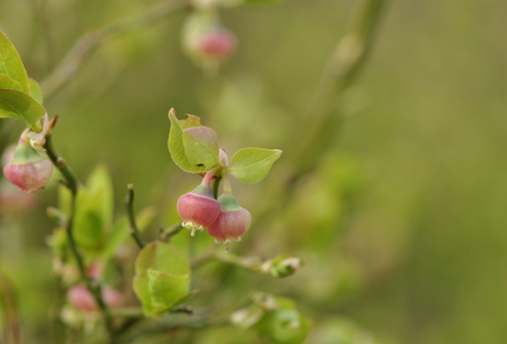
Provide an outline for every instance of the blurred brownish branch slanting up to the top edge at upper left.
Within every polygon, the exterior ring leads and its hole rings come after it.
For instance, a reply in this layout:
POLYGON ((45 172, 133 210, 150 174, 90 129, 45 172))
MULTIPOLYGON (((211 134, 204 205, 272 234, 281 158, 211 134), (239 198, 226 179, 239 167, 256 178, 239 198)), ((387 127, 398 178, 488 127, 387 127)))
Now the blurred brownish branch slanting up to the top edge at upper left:
POLYGON ((120 34, 133 31, 142 25, 161 21, 166 15, 184 9, 187 0, 165 0, 154 3, 138 17, 119 20, 104 28, 85 33, 71 49, 62 62, 41 83, 45 99, 51 98, 65 84, 67 84, 80 68, 85 60, 103 42, 120 34))

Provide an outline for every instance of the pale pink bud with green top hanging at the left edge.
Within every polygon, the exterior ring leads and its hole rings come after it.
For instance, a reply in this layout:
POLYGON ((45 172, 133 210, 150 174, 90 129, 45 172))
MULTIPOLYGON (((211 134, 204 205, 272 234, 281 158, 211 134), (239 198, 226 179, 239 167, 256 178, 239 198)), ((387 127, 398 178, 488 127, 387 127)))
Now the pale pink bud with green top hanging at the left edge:
POLYGON ((14 150, 12 160, 3 169, 6 179, 28 193, 44 189, 51 178, 53 163, 33 148, 23 137, 14 150))

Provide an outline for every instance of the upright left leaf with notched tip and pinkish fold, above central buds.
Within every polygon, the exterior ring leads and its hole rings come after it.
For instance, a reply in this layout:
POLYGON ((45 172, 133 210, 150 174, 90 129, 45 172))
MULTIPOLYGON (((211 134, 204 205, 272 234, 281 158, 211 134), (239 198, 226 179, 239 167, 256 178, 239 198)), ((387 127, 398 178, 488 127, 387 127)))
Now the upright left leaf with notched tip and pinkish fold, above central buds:
POLYGON ((174 109, 169 111, 171 129, 168 148, 174 163, 191 173, 205 172, 218 165, 218 136, 201 125, 201 118, 186 115, 177 119, 174 109))

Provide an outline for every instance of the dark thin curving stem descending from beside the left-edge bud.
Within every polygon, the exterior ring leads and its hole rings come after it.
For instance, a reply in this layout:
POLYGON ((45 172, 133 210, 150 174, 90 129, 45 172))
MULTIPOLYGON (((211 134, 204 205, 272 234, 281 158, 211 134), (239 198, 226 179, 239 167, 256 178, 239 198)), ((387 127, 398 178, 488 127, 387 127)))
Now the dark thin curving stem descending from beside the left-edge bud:
MULTIPOLYGON (((56 121, 56 117, 53 119, 52 127, 54 127, 55 121, 56 121)), ((104 315, 104 320, 106 322, 106 329, 108 331, 109 338, 112 341, 112 337, 114 337, 112 321, 109 314, 109 310, 106 303, 104 302, 100 284, 93 282, 90 277, 86 273, 85 261, 84 261, 83 255, 79 252, 76 239, 74 237, 74 217, 76 213, 76 198, 77 198, 77 191, 78 191, 77 180, 74 176, 74 173, 68 168, 65 160, 58 157, 58 154, 56 153, 53 147, 51 132, 47 133, 45 137, 44 149, 46 150, 47 157, 53 162, 55 168, 58 169, 58 171, 64 176, 65 186, 71 191, 71 209, 69 209, 68 218, 67 218, 66 226, 65 226, 68 246, 71 247, 71 251, 74 256, 74 259, 76 260, 77 267, 79 269, 80 278, 84 280, 86 288, 94 297, 95 301, 97 302, 104 315)))

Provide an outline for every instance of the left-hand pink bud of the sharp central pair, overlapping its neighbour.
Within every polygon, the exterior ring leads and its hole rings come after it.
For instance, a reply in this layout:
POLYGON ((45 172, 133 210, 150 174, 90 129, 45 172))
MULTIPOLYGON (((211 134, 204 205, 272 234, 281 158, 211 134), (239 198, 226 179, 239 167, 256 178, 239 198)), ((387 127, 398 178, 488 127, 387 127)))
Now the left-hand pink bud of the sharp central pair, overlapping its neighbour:
POLYGON ((183 219, 183 227, 191 229, 194 236, 195 230, 203 232, 215 222, 220 214, 220 205, 213 197, 212 189, 201 184, 177 200, 177 213, 183 219))

